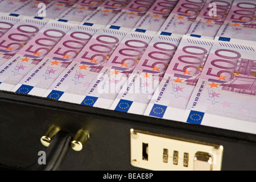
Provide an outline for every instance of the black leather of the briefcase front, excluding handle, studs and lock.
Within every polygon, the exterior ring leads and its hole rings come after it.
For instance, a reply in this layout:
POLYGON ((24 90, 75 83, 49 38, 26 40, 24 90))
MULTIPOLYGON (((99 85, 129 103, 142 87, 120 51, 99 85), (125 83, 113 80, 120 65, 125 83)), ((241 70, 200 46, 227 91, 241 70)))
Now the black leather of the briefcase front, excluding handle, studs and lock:
POLYGON ((140 170, 130 164, 130 129, 224 146, 222 170, 255 170, 255 135, 119 113, 38 97, 0 92, 0 163, 26 167, 46 150, 40 137, 52 124, 73 136, 86 129, 80 152, 69 151, 63 170, 140 170))

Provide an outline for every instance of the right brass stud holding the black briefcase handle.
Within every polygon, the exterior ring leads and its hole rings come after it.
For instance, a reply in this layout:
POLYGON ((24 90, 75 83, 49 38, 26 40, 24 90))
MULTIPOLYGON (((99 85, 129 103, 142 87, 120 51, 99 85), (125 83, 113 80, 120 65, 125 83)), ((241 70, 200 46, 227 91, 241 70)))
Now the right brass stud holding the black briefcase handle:
POLYGON ((89 133, 86 130, 79 130, 74 137, 73 141, 71 142, 71 147, 75 151, 81 151, 82 147, 84 146, 85 142, 89 139, 89 133))

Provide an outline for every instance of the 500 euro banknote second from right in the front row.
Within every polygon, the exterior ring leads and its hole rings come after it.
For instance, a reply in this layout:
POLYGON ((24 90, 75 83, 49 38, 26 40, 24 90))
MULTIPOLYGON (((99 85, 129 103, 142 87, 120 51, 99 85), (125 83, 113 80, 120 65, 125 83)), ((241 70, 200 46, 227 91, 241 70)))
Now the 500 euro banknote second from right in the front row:
POLYGON ((181 121, 213 40, 184 35, 144 115, 181 121))

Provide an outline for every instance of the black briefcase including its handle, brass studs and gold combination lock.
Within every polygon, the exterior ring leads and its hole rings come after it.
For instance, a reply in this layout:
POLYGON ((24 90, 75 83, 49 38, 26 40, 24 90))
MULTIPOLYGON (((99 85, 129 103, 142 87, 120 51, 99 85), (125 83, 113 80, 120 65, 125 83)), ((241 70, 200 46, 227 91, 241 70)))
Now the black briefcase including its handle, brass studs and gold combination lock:
POLYGON ((3 170, 256 169, 253 134, 4 91, 0 105, 3 170))

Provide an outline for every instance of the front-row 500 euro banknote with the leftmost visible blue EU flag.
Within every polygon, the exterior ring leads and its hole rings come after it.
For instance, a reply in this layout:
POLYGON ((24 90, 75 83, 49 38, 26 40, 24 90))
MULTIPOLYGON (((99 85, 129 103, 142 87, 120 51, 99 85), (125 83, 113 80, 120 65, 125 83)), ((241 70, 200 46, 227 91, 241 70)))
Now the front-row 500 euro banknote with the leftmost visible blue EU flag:
POLYGON ((97 29, 87 26, 72 27, 51 52, 40 61, 40 64, 31 69, 12 91, 43 96, 59 75, 79 55, 96 31, 97 29))

